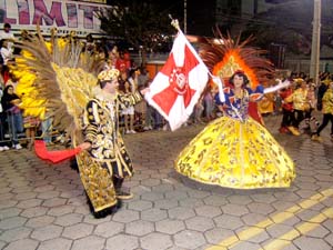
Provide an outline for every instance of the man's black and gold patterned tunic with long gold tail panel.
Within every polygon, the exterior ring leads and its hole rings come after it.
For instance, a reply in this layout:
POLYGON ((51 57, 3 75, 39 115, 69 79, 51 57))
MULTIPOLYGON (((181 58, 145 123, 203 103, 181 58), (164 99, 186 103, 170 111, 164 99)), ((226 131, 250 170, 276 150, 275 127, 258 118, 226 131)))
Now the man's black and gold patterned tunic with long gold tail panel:
POLYGON ((119 113, 141 100, 139 92, 114 96, 101 92, 87 104, 83 134, 91 148, 77 159, 81 180, 95 211, 117 203, 113 176, 132 176, 132 162, 119 130, 119 113))

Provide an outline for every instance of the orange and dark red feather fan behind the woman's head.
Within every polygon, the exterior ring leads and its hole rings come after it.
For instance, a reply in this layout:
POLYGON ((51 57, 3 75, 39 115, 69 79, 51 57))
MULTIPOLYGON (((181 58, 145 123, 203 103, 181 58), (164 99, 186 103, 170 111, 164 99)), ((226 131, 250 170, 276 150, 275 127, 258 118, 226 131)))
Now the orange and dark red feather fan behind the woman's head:
POLYGON ((273 63, 262 56, 264 50, 249 47, 251 38, 241 42, 240 37, 232 40, 230 34, 223 37, 216 28, 216 39, 205 39, 199 44, 200 57, 214 76, 228 80, 235 71, 243 71, 251 88, 265 83, 274 74, 273 63))

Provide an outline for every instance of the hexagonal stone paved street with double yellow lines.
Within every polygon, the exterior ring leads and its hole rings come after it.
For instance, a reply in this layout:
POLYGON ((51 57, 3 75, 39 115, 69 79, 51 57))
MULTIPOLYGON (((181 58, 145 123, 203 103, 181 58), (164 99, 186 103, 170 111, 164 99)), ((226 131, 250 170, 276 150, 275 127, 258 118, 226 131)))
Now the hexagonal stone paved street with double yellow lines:
POLYGON ((134 199, 94 219, 78 173, 31 151, 0 152, 0 249, 6 250, 331 250, 333 142, 269 130, 296 162, 289 189, 232 190, 179 176, 173 160, 203 128, 125 136, 134 199))

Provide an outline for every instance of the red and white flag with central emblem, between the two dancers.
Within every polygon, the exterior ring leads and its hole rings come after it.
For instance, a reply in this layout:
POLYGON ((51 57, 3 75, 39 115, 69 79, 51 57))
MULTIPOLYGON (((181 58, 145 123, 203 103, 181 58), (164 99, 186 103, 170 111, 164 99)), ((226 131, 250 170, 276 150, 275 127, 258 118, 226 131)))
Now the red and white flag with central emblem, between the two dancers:
POLYGON ((153 79, 145 100, 175 130, 191 116, 204 90, 209 70, 185 36, 179 31, 170 56, 153 79))

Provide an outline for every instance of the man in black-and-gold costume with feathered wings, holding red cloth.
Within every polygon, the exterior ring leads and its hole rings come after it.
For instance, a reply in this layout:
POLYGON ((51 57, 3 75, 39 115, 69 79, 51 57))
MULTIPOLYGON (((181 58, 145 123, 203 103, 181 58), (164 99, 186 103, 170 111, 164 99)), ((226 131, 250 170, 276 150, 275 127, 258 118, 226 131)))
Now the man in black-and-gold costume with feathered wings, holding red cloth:
POLYGON ((74 149, 49 151, 41 141, 36 141, 34 149, 40 158, 52 162, 75 156, 92 213, 101 218, 114 212, 119 200, 132 197, 121 189, 123 179, 132 176, 132 164, 119 131, 118 113, 141 101, 142 94, 119 94, 119 71, 100 72, 103 61, 82 52, 82 44, 57 37, 47 44, 38 27, 37 37, 17 44, 26 52, 18 57, 16 70, 33 76, 24 81, 31 91, 24 92, 34 94, 36 107, 52 118, 54 129, 70 134, 74 149))

